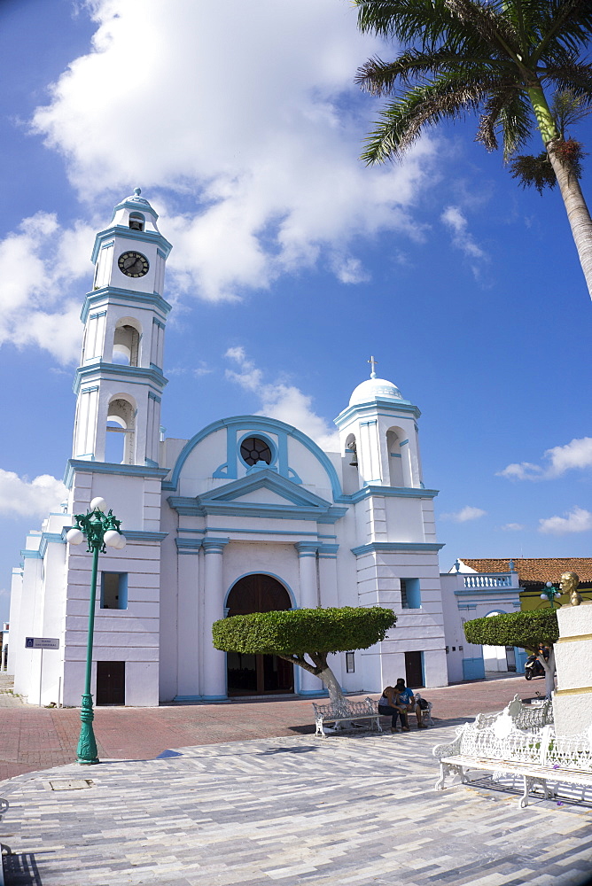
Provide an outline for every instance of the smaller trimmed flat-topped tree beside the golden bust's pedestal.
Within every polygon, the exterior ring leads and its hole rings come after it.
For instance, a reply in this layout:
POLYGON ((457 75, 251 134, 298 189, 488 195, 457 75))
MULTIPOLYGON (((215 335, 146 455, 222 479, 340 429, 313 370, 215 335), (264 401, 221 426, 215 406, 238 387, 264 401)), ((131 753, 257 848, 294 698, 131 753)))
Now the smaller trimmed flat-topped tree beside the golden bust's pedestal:
POLYGON ((487 618, 473 618, 464 625, 468 643, 482 646, 519 646, 534 652, 545 671, 545 694, 551 697, 555 686, 555 649, 559 638, 556 610, 509 612, 487 618), (549 661, 539 654, 539 646, 549 647, 549 661))

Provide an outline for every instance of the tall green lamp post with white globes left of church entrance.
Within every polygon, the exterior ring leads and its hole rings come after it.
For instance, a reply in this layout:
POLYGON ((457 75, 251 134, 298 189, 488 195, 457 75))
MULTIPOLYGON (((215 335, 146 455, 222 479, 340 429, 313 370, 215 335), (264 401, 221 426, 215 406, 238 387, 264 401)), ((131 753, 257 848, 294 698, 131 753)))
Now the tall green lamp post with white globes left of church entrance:
POLYGON ((92 554, 92 572, 90 577, 90 610, 89 610, 89 636, 86 646, 86 675, 84 678, 84 692, 82 694, 82 706, 80 711, 81 729, 78 740, 76 758, 79 763, 98 763, 97 742, 92 730, 92 721, 95 717, 92 710, 92 696, 90 695, 90 674, 92 672, 92 641, 95 630, 95 601, 97 599, 97 574, 98 555, 104 554, 107 547, 124 548, 125 536, 120 532, 121 520, 113 516, 110 510, 105 511, 107 504, 105 499, 95 498, 90 502, 90 509, 86 514, 74 514, 76 525, 67 532, 66 540, 71 545, 79 545, 86 540, 87 551, 92 554))

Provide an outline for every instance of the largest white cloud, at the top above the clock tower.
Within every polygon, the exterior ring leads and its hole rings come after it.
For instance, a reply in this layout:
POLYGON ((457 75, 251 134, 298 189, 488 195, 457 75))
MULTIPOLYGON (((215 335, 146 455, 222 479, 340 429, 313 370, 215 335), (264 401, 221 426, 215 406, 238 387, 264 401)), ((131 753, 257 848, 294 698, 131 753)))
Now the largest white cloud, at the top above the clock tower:
POLYGON ((33 129, 64 156, 83 200, 142 185, 175 243, 178 292, 232 299, 317 263, 359 284, 364 238, 395 231, 396 248, 421 236, 409 210, 432 145, 423 139, 401 166, 358 159, 373 105, 353 76, 381 44, 342 0, 88 8, 92 48, 53 85, 33 129))

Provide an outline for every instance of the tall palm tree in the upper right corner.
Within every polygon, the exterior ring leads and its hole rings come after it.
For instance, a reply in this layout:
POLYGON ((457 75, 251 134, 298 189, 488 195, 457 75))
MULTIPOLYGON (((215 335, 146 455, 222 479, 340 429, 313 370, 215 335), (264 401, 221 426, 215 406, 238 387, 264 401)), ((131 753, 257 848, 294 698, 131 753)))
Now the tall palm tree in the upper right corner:
MULTIPOLYGON (((592 104, 590 0, 354 0, 358 27, 401 43, 393 61, 370 58, 356 82, 393 95, 362 159, 400 158, 422 130, 479 113, 477 141, 502 138, 510 159, 538 128, 557 178, 592 298, 592 220, 580 189, 581 146, 565 138, 545 90, 584 112, 592 104)), ((551 98, 552 104, 552 98, 551 98)), ((534 159, 534 158, 533 158, 534 159)), ((515 168, 516 171, 516 168, 515 168)), ((519 175, 519 170, 518 170, 519 175)))

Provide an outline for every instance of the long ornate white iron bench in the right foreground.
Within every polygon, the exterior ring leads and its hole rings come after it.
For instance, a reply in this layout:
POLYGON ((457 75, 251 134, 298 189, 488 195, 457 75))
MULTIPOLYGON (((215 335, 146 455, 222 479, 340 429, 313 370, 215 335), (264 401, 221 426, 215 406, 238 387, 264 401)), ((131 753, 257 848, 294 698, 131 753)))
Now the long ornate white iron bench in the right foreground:
POLYGON ((531 790, 541 787, 545 798, 557 794, 557 784, 573 784, 584 791, 592 788, 592 746, 590 734, 556 735, 554 727, 532 732, 517 729, 507 714, 493 726, 479 727, 465 723, 449 744, 432 750, 440 761, 440 778, 435 789, 444 789, 447 775, 459 775, 463 784, 471 770, 485 770, 499 775, 516 775, 523 780, 524 792, 518 806, 528 805, 531 790), (551 791, 547 782, 555 782, 551 791))

